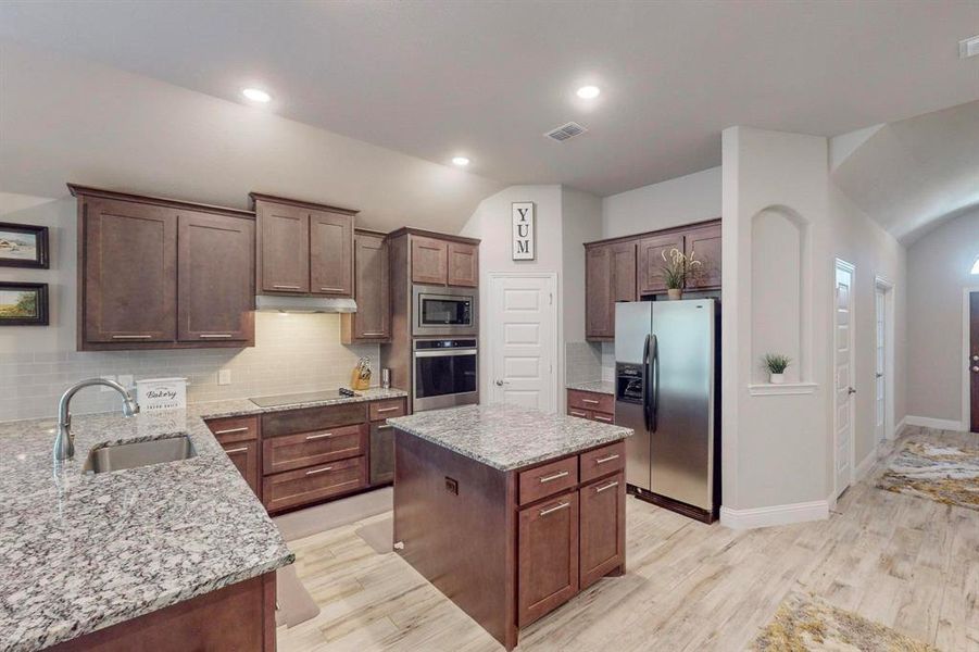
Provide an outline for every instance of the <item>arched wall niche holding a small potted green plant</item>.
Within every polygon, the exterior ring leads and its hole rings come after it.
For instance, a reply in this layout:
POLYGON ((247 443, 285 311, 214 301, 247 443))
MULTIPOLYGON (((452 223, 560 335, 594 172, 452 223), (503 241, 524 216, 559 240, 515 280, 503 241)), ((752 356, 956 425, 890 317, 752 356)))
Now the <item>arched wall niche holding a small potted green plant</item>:
POLYGON ((792 363, 787 383, 812 378, 809 223, 785 205, 767 206, 751 221, 751 383, 768 383, 766 353, 792 363))

